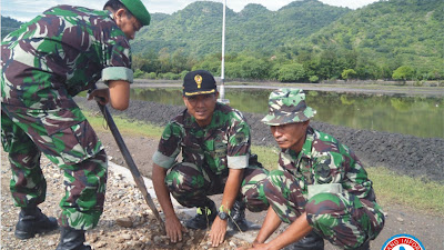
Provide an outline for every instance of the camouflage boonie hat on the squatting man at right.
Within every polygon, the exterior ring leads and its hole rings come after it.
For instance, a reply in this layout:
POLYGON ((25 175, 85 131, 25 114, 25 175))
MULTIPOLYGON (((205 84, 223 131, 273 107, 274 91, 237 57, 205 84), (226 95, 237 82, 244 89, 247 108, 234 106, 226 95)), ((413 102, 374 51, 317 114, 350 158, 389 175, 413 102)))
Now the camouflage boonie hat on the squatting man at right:
POLYGON ((269 126, 280 126, 303 122, 314 117, 316 110, 305 103, 305 93, 301 89, 279 89, 269 98, 269 114, 262 122, 269 126))

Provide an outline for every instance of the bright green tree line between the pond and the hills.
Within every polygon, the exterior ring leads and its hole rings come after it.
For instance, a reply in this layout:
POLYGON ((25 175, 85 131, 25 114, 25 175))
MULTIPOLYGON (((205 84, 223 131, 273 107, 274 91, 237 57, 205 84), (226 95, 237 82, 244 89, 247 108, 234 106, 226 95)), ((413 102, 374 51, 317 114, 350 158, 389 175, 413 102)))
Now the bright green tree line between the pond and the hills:
MULTIPOLYGON (((178 80, 196 69, 221 76, 221 53, 194 58, 183 50, 159 53, 153 51, 133 56, 135 78, 178 80)), ((443 68, 417 69, 400 60, 380 63, 372 54, 342 48, 325 49, 321 53, 301 50, 275 54, 239 52, 225 56, 225 79, 270 80, 280 82, 320 82, 322 80, 443 80, 443 68)))

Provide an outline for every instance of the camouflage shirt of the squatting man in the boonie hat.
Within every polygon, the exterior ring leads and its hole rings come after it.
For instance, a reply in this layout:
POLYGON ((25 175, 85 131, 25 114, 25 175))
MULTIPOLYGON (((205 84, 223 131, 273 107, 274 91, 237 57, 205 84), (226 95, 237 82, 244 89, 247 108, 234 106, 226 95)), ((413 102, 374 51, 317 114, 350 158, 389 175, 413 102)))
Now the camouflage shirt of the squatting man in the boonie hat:
POLYGON ((353 151, 332 136, 311 127, 299 154, 291 149, 281 151, 279 168, 295 177, 305 198, 309 197, 309 186, 312 186, 310 192, 321 192, 334 183, 341 183, 343 190, 357 198, 373 194, 372 181, 353 151))

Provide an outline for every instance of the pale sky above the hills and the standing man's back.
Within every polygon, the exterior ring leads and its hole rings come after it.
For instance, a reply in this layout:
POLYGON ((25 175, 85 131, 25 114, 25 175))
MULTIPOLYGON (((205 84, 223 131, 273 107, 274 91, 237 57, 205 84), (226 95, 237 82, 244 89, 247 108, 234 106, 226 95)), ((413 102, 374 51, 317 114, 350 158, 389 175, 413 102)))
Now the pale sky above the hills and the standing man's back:
MULTIPOLYGON (((155 13, 173 13, 184 9, 196 0, 142 0, 148 11, 155 13)), ((223 2, 224 0, 212 0, 223 2)), ((226 7, 240 12, 248 3, 259 3, 266 9, 275 11, 294 0, 226 0, 226 7)), ((357 9, 377 0, 320 0, 329 6, 349 7, 357 9)), ((37 14, 58 4, 82 6, 91 9, 102 9, 107 0, 3 0, 1 1, 1 14, 19 21, 29 21, 37 14)))

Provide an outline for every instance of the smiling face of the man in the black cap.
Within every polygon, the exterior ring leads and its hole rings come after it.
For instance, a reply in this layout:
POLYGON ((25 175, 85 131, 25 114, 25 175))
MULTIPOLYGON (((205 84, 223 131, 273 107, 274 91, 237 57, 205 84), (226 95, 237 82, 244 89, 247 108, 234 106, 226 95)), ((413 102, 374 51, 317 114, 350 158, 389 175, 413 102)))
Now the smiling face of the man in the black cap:
POLYGON ((182 97, 188 112, 195 118, 200 127, 211 123, 219 93, 182 97))

